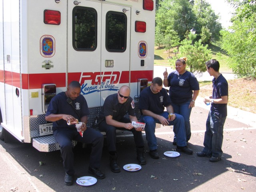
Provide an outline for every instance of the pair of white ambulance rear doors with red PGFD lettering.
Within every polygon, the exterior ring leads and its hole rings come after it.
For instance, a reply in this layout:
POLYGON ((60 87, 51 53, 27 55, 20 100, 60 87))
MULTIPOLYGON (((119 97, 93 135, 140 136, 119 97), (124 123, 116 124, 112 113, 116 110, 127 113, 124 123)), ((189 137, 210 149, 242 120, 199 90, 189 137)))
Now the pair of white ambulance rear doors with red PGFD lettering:
POLYGON ((68 26, 68 83, 80 82, 88 107, 102 106, 108 95, 129 85, 130 8, 68 1, 68 26))

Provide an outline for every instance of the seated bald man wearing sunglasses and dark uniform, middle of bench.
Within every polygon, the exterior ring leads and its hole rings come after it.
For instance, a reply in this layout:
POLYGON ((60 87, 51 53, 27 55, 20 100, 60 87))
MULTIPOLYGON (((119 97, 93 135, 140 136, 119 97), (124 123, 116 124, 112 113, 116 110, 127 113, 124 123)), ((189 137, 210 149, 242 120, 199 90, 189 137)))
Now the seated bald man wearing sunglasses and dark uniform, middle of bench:
POLYGON ((109 95, 104 101, 99 116, 99 130, 106 132, 111 171, 114 173, 120 172, 120 167, 117 163, 116 129, 132 132, 137 149, 137 160, 139 164, 145 165, 142 128, 134 128, 132 126, 132 121, 137 122, 138 120, 135 116, 134 101, 130 97, 130 88, 124 85, 118 93, 109 95), (127 112, 130 119, 124 117, 127 112))

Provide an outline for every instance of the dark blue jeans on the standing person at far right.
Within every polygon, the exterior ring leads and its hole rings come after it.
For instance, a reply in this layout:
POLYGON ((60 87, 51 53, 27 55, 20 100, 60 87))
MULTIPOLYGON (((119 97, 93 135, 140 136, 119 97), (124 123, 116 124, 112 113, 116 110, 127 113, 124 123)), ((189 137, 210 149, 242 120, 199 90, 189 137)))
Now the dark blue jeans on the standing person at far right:
POLYGON ((223 126, 226 117, 217 117, 210 111, 206 121, 206 131, 204 134, 203 152, 209 156, 222 156, 223 126))

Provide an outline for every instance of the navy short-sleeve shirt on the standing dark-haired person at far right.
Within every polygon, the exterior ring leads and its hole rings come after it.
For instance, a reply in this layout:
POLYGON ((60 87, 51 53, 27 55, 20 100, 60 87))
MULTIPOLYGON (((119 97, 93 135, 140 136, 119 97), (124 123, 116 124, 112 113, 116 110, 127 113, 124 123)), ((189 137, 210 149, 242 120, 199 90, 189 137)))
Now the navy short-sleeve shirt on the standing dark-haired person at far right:
MULTIPOLYGON (((222 96, 228 96, 228 82, 220 74, 217 79, 213 78, 212 80, 212 98, 220 99, 222 96)), ((228 115, 227 112, 228 104, 216 104, 212 103, 211 111, 214 112, 218 117, 226 117, 228 115)))

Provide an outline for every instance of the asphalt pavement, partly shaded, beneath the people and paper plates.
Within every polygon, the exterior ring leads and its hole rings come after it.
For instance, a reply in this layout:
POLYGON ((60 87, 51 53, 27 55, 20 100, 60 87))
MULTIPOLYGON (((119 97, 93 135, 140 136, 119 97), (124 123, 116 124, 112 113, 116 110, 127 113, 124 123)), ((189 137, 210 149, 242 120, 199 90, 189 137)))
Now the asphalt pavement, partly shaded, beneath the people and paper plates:
MULTIPOLYGON (((169 72, 169 71, 168 71, 169 72)), ((176 158, 166 157, 164 152, 176 149, 172 145, 174 133, 171 126, 156 129, 159 159, 148 154, 146 136, 145 157, 147 164, 141 170, 113 173, 109 168, 106 143, 102 153, 101 170, 106 178, 92 186, 64 185, 64 170, 60 151, 39 152, 32 144, 0 141, 0 191, 1 192, 252 192, 256 189, 255 132, 256 114, 228 106, 224 125, 222 160, 209 162, 198 157, 203 149, 206 118, 210 106, 197 98, 190 122, 192 136, 188 143, 194 153, 180 153, 176 158), (40 163, 42 165, 40 165, 40 163)), ((15 140, 14 140, 15 141, 15 140)), ((122 132, 117 138, 118 163, 121 167, 134 163, 136 149, 130 132, 122 132)), ((78 145, 74 150, 75 178, 91 176, 87 172, 90 146, 78 145)))

